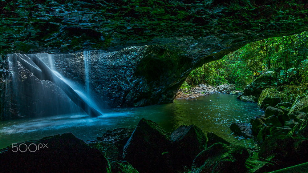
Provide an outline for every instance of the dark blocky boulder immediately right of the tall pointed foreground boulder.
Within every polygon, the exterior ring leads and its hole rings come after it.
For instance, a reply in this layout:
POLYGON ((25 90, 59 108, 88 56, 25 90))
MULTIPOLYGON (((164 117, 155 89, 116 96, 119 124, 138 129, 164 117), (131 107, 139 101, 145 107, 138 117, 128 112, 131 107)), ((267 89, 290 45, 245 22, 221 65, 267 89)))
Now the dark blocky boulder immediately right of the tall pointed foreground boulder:
POLYGON ((207 139, 202 130, 195 126, 180 126, 170 136, 172 152, 179 166, 191 166, 193 159, 207 147, 207 139))

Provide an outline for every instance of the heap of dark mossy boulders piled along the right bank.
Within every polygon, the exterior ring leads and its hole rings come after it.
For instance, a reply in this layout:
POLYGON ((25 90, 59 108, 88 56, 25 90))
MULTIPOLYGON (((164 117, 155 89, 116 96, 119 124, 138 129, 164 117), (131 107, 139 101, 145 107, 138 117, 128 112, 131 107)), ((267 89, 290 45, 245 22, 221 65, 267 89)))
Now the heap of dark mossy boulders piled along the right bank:
POLYGON ((262 91, 258 104, 264 115, 250 123, 233 123, 230 129, 246 138, 256 137, 261 143, 258 157, 285 168, 308 162, 308 97, 298 96, 295 101, 282 102, 283 95, 267 88, 262 91))

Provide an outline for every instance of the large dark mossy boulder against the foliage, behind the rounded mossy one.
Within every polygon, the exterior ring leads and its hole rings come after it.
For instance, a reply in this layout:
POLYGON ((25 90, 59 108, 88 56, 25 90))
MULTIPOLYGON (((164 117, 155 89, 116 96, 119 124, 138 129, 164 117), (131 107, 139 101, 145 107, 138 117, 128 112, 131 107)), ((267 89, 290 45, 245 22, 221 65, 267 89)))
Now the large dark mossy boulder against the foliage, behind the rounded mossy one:
POLYGON ((268 71, 259 76, 251 84, 247 85, 243 92, 246 96, 253 95, 259 98, 263 90, 276 86, 278 86, 277 73, 274 71, 268 71))

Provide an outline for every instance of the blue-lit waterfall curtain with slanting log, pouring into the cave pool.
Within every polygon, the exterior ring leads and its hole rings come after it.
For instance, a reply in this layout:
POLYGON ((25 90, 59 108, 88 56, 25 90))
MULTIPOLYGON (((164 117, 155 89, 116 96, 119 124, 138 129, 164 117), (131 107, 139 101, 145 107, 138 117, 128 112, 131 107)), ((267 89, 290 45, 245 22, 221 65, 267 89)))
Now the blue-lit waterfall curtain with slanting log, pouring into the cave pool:
MULTIPOLYGON (((55 59, 50 54, 11 54, 9 61, 13 73, 14 109, 19 111, 20 116, 38 117, 80 111, 85 111, 89 116, 102 115, 90 94, 89 70, 85 75, 85 90, 56 70, 55 59)), ((88 63, 87 66, 89 69, 88 63)))

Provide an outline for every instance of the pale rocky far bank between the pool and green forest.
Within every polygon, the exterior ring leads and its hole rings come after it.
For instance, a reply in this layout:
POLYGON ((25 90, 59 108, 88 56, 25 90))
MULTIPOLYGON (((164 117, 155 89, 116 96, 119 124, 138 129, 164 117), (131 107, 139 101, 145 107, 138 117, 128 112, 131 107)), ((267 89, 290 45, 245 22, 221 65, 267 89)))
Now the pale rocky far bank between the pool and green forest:
POLYGON ((176 93, 176 99, 195 99, 196 97, 209 95, 214 93, 227 93, 227 94, 241 94, 241 91, 235 89, 235 85, 220 85, 220 86, 207 86, 203 83, 198 85, 199 87, 190 89, 180 89, 176 93))

